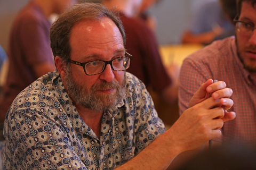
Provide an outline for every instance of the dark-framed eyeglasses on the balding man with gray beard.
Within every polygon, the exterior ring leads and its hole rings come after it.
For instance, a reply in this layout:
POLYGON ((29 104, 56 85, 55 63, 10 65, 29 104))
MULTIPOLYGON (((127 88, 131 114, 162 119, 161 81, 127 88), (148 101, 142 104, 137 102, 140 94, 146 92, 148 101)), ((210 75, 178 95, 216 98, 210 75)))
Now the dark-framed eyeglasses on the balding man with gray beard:
POLYGON ((131 61, 132 55, 127 52, 125 52, 125 56, 117 57, 110 61, 94 60, 81 63, 70 59, 68 60, 69 63, 83 66, 86 75, 100 74, 106 69, 108 64, 110 64, 111 69, 114 71, 124 71, 130 67, 131 61))

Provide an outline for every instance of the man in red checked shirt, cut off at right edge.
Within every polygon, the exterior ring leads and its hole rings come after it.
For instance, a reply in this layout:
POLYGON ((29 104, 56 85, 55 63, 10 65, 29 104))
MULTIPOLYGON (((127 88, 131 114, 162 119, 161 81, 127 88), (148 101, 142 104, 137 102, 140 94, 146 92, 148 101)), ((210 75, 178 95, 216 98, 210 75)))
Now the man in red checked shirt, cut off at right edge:
MULTIPOLYGON (((225 123, 222 136, 215 143, 256 146, 256 1, 237 1, 235 37, 215 41, 190 55, 183 62, 180 74, 180 114, 189 100, 207 79, 225 81, 235 91, 234 111, 237 117, 225 123)), ((210 89, 209 89, 210 90, 210 89)), ((214 94, 213 94, 214 95, 214 94)))

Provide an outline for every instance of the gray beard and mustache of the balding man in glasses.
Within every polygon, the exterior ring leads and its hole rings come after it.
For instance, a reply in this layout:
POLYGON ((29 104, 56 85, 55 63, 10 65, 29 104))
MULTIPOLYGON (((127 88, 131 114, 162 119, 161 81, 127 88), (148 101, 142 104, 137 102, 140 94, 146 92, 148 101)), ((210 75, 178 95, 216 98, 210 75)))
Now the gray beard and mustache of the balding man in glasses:
MULTIPOLYGON (((124 74, 125 75, 125 74, 124 74)), ((66 85, 68 95, 76 101, 77 104, 88 108, 92 111, 104 111, 106 109, 114 108, 121 102, 125 95, 126 76, 122 82, 122 86, 117 81, 102 82, 94 84, 90 89, 79 85, 72 77, 70 65, 66 66, 66 85), (97 90, 116 89, 114 94, 96 95, 97 90)))

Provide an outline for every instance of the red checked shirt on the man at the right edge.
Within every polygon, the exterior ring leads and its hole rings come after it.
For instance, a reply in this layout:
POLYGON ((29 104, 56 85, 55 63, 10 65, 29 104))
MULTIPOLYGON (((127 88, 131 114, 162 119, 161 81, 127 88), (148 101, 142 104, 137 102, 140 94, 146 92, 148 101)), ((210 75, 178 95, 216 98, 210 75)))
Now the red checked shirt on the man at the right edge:
POLYGON ((234 120, 225 122, 217 141, 235 145, 256 145, 256 79, 239 60, 235 37, 214 41, 191 54, 183 62, 180 74, 180 114, 196 90, 208 79, 225 81, 233 90, 234 120))

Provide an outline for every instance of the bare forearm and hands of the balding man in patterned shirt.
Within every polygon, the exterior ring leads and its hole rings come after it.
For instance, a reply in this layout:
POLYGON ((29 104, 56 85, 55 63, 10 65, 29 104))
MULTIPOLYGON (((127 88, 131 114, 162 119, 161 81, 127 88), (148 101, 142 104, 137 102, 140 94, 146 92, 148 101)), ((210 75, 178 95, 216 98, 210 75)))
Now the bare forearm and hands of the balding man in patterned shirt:
MULTIPOLYGON (((203 84, 197 94, 203 94, 210 81, 212 80, 203 84)), ((220 84, 210 87, 217 88, 215 94, 219 97, 230 97, 229 89, 218 90, 222 87, 220 84)), ((231 99, 215 100, 210 97, 187 109, 168 131, 119 169, 166 169, 181 152, 196 149, 211 139, 219 138, 224 119, 227 121, 235 117, 235 113, 233 116, 226 116, 222 107, 212 109, 223 103, 227 107, 233 105, 231 99)))

